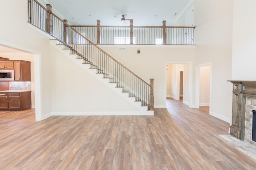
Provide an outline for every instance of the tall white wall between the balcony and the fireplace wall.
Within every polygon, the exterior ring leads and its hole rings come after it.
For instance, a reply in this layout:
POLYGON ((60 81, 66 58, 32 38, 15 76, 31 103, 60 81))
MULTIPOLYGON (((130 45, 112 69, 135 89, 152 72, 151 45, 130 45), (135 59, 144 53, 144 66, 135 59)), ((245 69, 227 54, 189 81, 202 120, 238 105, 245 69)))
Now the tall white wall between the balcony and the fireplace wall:
POLYGON ((232 7, 233 0, 194 0, 196 66, 212 63, 210 114, 228 122, 232 117, 232 84, 227 82, 232 69, 232 7))

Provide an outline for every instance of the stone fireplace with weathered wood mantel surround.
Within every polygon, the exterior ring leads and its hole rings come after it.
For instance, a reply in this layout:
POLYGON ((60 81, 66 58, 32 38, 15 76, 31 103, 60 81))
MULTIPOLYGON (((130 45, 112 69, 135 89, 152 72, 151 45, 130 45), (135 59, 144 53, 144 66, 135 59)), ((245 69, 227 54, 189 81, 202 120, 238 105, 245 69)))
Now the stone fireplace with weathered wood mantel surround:
POLYGON ((256 142, 252 141, 252 111, 256 110, 256 81, 230 82, 233 83, 230 135, 256 146, 256 142))

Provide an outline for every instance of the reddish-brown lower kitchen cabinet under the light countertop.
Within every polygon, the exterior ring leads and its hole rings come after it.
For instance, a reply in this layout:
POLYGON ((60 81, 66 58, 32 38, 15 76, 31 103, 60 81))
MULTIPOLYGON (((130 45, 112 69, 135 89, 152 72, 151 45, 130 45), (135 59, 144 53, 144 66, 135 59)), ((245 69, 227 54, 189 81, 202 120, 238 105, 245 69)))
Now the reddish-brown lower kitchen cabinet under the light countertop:
POLYGON ((0 110, 25 110, 31 108, 31 91, 0 94, 0 110))

